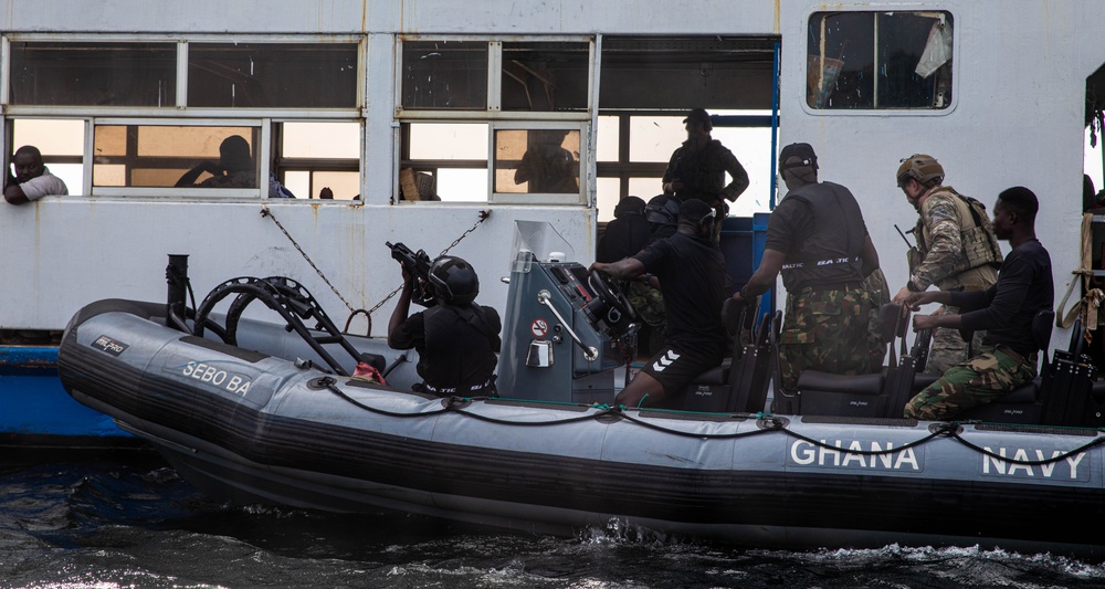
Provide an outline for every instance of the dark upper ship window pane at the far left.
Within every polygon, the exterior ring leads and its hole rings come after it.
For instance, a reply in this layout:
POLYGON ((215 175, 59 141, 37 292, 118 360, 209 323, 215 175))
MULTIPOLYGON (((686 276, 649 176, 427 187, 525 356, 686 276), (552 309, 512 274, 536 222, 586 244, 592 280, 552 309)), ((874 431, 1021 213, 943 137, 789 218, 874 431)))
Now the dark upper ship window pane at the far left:
POLYGON ((13 42, 12 105, 173 106, 175 43, 13 42))

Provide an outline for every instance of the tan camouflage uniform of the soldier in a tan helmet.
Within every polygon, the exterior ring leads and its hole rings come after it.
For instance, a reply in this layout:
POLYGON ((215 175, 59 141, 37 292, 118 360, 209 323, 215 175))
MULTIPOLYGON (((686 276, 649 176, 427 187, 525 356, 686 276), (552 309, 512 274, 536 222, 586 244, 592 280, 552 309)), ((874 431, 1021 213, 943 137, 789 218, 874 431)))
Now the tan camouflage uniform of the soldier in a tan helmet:
MULTIPOLYGON (((967 257, 968 248, 976 252, 976 261, 1001 261, 998 240, 981 202, 959 194, 951 187, 939 186, 922 203, 919 213, 914 229, 917 246, 909 252, 909 281, 915 290, 926 291, 935 284, 941 291, 985 291, 998 282, 997 264, 968 267, 972 263, 967 257), (981 225, 971 215, 972 206, 981 225)), ((937 313, 954 315, 959 309, 944 306, 937 313)), ((983 335, 985 332, 975 334, 976 354, 983 335)), ((967 351, 967 343, 958 329, 936 329, 926 372, 944 374, 965 361, 967 351)))

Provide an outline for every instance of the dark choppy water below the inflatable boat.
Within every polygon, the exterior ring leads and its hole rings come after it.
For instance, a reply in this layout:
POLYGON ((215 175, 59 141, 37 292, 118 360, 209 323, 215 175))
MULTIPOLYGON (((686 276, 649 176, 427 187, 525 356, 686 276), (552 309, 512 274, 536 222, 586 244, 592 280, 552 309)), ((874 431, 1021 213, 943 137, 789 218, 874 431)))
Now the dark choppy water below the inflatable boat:
POLYGON ((747 550, 611 529, 555 538, 230 507, 156 461, 0 469, 0 588, 1103 586, 1105 567, 1050 555, 747 550))

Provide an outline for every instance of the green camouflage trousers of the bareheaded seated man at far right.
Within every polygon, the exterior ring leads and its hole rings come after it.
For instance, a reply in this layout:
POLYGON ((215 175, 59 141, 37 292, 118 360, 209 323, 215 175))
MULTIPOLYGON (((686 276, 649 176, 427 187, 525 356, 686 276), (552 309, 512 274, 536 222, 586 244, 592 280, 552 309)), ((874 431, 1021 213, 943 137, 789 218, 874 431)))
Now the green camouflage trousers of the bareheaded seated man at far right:
POLYGON ((1028 358, 999 345, 953 366, 905 406, 907 419, 940 420, 992 402, 1036 376, 1036 355, 1028 358))

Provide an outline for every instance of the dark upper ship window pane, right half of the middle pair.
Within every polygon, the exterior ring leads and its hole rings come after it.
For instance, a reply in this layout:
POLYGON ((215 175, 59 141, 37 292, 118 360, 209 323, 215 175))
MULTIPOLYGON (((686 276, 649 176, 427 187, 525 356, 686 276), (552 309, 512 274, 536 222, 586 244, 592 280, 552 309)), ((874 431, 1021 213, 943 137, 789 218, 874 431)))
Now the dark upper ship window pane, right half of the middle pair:
POLYGON ((503 111, 586 111, 589 43, 504 42, 503 111))

